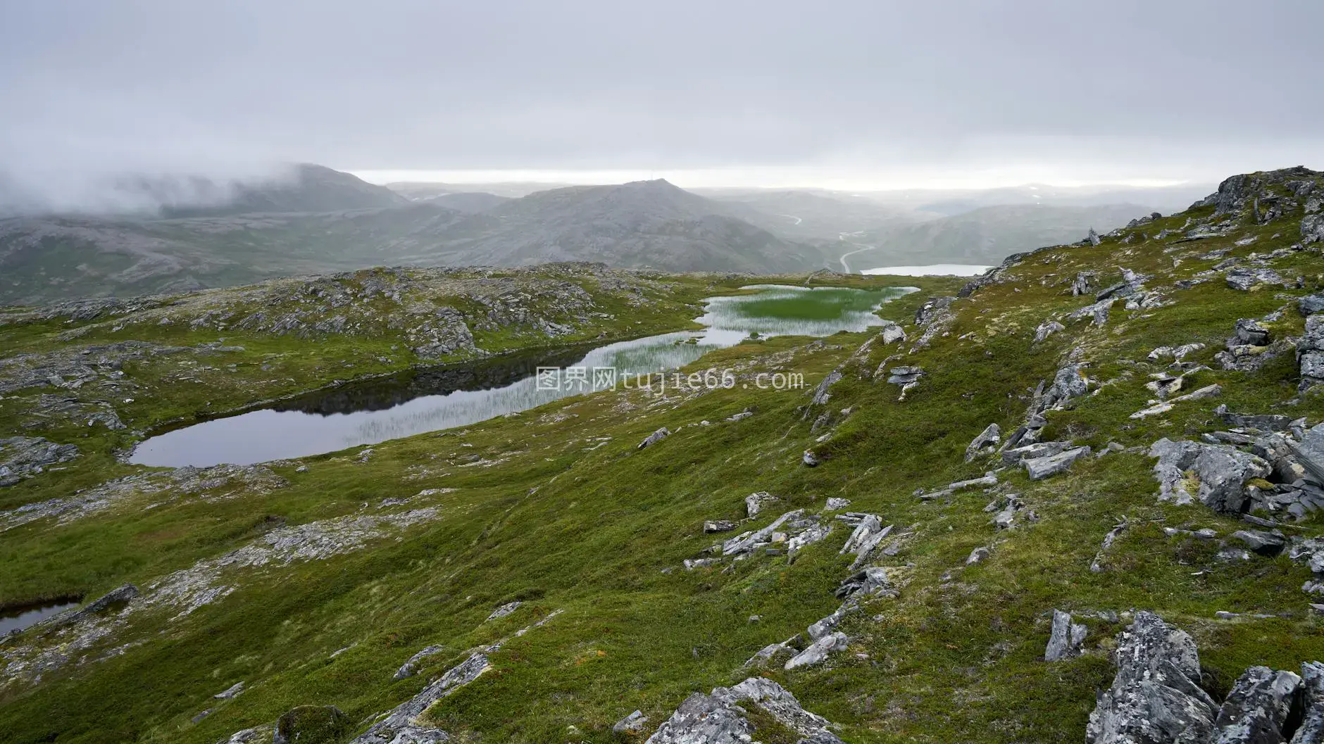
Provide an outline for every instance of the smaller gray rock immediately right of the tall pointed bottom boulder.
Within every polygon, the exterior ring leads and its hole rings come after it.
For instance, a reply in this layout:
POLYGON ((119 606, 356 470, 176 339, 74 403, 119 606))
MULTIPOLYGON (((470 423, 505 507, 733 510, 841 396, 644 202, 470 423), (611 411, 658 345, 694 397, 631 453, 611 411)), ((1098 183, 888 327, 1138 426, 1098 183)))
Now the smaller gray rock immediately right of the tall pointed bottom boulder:
POLYGON ((1214 720, 1215 744, 1287 741, 1283 728, 1301 678, 1291 671, 1253 666, 1233 684, 1214 720))

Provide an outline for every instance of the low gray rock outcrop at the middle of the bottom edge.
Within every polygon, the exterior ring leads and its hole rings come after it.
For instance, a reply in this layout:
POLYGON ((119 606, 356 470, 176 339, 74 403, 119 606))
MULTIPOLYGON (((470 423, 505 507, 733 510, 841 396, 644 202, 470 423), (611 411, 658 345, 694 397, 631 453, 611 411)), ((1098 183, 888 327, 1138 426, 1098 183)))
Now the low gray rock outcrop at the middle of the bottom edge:
POLYGON ((842 744, 828 719, 800 706, 800 700, 771 679, 751 676, 712 694, 695 692, 681 703, 647 744, 748 744, 759 729, 748 719, 755 706, 802 739, 804 744, 842 744))

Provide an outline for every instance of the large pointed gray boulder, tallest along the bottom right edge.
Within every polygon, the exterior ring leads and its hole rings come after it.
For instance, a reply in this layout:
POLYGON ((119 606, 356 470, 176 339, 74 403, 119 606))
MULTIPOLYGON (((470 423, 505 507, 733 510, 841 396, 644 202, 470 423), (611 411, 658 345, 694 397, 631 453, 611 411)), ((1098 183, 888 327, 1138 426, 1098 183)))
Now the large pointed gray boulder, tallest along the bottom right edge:
POLYGON ((1087 744, 1209 741, 1217 706, 1200 687, 1200 654, 1186 633, 1149 612, 1117 637, 1117 673, 1099 695, 1087 744))

